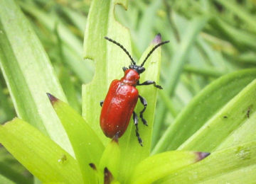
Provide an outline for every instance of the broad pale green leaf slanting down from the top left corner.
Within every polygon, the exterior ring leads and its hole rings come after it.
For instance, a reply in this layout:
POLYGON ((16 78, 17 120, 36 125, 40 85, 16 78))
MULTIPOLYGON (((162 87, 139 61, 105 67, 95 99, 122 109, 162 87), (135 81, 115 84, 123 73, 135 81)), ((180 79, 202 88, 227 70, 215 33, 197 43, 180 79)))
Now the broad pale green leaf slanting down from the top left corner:
POLYGON ((0 67, 18 117, 73 154, 46 92, 62 100, 65 95, 41 42, 13 0, 0 1, 0 30, 0 67))

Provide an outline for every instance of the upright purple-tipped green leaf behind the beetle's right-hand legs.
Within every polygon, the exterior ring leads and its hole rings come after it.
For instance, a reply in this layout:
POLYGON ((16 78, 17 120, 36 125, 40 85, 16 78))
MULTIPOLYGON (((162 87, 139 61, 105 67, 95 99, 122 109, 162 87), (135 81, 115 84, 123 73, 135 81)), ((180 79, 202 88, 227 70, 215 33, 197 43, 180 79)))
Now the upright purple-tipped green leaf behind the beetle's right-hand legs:
MULTIPOLYGON (((149 53, 154 45, 160 42, 159 39, 161 39, 161 37, 156 35, 156 38, 154 38, 153 42, 151 42, 151 45, 142 54, 141 59, 139 59, 139 63, 142 63, 146 57, 146 54, 149 53)), ((161 48, 158 48, 156 51, 154 51, 154 54, 149 57, 146 64, 144 64, 146 71, 144 71, 144 73, 141 75, 140 82, 142 83, 143 81, 150 80, 156 81, 156 84, 158 84, 160 65, 161 48)), ((148 103, 143 115, 149 126, 146 127, 142 124, 142 122, 139 122, 139 134, 143 139, 143 146, 139 145, 138 139, 135 136, 135 126, 133 125, 134 122, 132 118, 129 122, 126 133, 123 135, 123 137, 121 137, 119 141, 122 153, 122 165, 119 173, 120 178, 118 178, 118 180, 120 180, 121 183, 128 182, 129 175, 134 170, 134 166, 136 166, 139 161, 142 161, 150 154, 151 134, 154 121, 154 111, 156 108, 156 93, 159 89, 155 88, 154 86, 137 86, 137 88, 139 89, 139 95, 143 96, 148 103)), ((138 101, 135 112, 140 112, 142 109, 143 106, 138 101)))

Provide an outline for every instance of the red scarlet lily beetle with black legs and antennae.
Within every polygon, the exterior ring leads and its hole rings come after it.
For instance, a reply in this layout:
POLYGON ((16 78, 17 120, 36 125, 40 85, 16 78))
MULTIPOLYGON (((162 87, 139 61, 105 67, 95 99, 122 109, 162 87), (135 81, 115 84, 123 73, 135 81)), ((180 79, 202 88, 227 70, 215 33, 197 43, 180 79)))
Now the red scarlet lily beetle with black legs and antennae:
POLYGON ((155 81, 144 81, 142 84, 140 84, 139 75, 145 71, 143 65, 149 56, 154 52, 154 50, 169 41, 161 42, 161 35, 156 35, 156 38, 154 39, 156 46, 154 46, 149 54, 147 54, 146 58, 139 66, 136 64, 136 62, 134 62, 132 56, 121 44, 119 44, 119 42, 116 42, 107 37, 105 37, 105 39, 121 47, 121 49, 124 50, 132 62, 129 65, 129 69, 127 67, 122 68, 124 71, 124 76, 120 80, 114 79, 114 81, 112 81, 105 100, 100 102, 100 105, 102 106, 102 111, 100 114, 100 127, 107 137, 119 138, 127 130, 129 120, 133 115, 134 125, 136 127, 136 136, 138 138, 139 144, 142 145, 142 139, 139 137, 138 130, 139 118, 134 112, 134 108, 139 98, 142 105, 144 105, 144 108, 139 113, 139 117, 142 119, 143 124, 147 126, 147 122, 143 117, 147 103, 145 98, 139 96, 139 92, 136 86, 153 84, 156 88, 162 89, 161 86, 156 85, 155 81))

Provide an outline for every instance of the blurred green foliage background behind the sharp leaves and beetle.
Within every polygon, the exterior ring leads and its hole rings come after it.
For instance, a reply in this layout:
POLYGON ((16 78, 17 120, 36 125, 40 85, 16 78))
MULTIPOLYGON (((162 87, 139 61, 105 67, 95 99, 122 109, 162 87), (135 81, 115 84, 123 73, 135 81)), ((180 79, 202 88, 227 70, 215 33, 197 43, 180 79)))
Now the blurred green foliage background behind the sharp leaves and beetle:
MULTIPOLYGON (((92 61, 82 59, 91 1, 16 2, 43 43, 70 105, 80 112, 81 86, 89 83, 94 74, 92 61)), ((152 144, 211 81, 235 70, 255 67, 255 0, 130 0, 128 10, 116 6, 115 15, 130 30, 129 52, 135 59, 157 33, 163 40, 170 40, 162 47, 160 84, 171 85, 166 93, 159 93, 152 144)), ((16 114, 2 74, 0 99, 0 123, 4 123, 16 114)), ((17 164, 11 156, 7 159, 17 164)), ((22 167, 17 172, 29 177, 22 167)))

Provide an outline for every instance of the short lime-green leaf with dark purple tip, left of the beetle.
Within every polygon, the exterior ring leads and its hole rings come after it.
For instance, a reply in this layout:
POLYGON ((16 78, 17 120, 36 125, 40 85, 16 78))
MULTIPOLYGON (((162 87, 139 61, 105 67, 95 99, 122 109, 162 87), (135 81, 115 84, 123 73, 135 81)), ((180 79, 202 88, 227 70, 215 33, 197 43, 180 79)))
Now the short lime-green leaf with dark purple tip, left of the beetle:
POLYGON ((90 168, 89 163, 100 162, 100 156, 104 149, 102 142, 73 108, 49 93, 48 97, 68 134, 85 183, 95 183, 94 171, 90 168))

